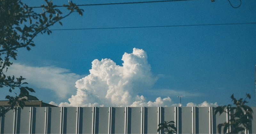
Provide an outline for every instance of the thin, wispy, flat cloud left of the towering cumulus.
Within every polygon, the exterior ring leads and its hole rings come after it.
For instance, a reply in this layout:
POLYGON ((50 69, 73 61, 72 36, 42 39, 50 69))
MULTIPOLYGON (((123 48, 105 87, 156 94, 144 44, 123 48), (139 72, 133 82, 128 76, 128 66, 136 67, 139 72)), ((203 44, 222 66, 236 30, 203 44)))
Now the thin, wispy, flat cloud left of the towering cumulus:
POLYGON ((29 85, 54 91, 61 99, 71 94, 72 91, 76 91, 75 82, 81 78, 80 75, 70 73, 68 69, 64 68, 30 67, 19 63, 13 63, 9 67, 7 75, 16 77, 22 75, 29 85))

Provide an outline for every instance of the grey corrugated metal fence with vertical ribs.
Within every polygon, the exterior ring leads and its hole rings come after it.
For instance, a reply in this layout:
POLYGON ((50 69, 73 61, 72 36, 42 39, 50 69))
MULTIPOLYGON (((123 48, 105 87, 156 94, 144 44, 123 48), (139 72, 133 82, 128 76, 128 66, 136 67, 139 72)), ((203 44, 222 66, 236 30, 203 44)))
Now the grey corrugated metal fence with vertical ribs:
MULTIPOLYGON (((215 134, 229 115, 214 107, 24 107, 0 118, 0 134, 157 134, 174 121, 178 134, 215 134)), ((256 107, 252 107, 256 112, 256 107)), ((256 121, 246 133, 256 134, 256 121)))

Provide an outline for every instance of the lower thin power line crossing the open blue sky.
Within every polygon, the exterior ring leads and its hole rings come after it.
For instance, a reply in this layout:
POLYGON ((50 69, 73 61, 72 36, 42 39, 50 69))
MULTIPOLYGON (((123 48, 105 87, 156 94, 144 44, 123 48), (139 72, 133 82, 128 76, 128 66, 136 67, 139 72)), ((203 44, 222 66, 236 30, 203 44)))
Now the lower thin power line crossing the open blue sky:
POLYGON ((188 27, 188 26, 214 26, 214 25, 241 25, 241 24, 256 24, 252 23, 226 23, 226 24, 198 24, 198 25, 171 25, 171 26, 145 26, 145 27, 116 27, 116 28, 74 28, 74 29, 50 29, 51 31, 60 30, 90 30, 90 29, 123 29, 123 28, 162 28, 162 27, 188 27))

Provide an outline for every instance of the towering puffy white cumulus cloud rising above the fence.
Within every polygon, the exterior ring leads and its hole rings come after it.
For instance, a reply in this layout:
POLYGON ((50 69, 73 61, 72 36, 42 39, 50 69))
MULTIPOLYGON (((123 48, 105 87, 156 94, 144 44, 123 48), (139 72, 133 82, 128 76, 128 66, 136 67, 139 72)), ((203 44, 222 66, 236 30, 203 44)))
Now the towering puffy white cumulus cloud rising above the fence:
POLYGON ((134 48, 131 54, 124 53, 122 60, 123 66, 111 59, 93 60, 90 75, 76 81, 76 95, 68 99, 70 106, 155 106, 171 101, 159 98, 146 102, 143 96, 138 96, 157 80, 145 51, 134 48))

